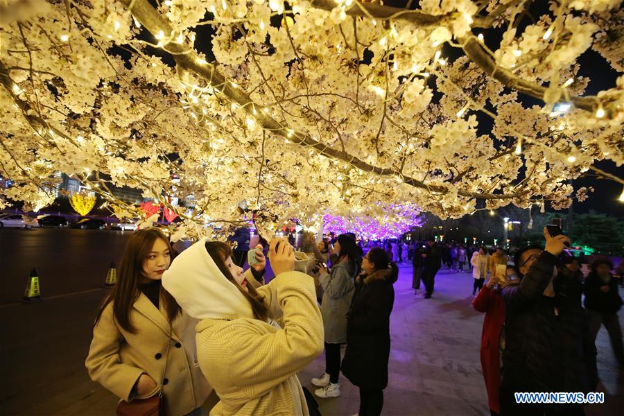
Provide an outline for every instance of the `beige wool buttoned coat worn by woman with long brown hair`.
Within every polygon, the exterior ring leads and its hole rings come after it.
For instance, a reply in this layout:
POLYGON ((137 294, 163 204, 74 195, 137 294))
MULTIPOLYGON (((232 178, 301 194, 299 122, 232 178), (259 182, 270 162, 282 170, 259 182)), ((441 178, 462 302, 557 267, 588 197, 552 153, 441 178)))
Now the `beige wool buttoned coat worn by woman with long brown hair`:
POLYGON ((145 399, 157 394, 163 382, 167 343, 170 343, 164 374, 163 393, 167 415, 180 416, 202 406, 211 392, 196 358, 195 326, 198 320, 182 313, 171 327, 166 311, 158 310, 141 293, 130 312, 136 332, 130 333, 116 324, 112 302, 104 309, 93 330, 93 340, 85 365, 93 381, 103 385, 120 399, 145 399), (148 374, 158 387, 146 396, 131 397, 139 376, 148 374))

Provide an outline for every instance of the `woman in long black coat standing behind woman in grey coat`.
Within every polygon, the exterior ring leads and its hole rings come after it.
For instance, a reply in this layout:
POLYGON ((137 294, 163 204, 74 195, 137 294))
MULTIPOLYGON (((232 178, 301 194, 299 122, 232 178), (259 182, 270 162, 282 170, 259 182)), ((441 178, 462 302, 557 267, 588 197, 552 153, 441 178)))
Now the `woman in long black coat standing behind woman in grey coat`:
POLYGON ((381 248, 372 248, 366 254, 362 269, 364 274, 356 278, 347 316, 342 371, 360 388, 358 415, 378 416, 383 407, 383 389, 388 385, 390 312, 395 302, 392 284, 399 277, 399 269, 381 248))

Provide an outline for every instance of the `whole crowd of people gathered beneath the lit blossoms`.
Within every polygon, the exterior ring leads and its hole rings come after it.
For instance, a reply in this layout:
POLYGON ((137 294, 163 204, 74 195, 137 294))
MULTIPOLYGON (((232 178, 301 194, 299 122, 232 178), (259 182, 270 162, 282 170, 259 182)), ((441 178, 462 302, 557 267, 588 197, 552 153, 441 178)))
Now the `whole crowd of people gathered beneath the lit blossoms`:
POLYGON ((358 415, 380 415, 397 263, 410 261, 415 293, 422 281, 426 299, 441 267, 472 271, 473 306, 485 313, 480 360, 492 415, 582 415, 581 405, 514 399, 595 391, 603 324, 624 366, 613 265, 598 259, 585 278, 578 259, 563 255, 569 239, 544 233, 546 247, 517 250, 512 266, 501 248, 433 240, 363 248, 353 234, 311 244, 313 259, 288 239, 248 251, 240 232, 239 250, 203 239, 172 259, 162 232, 141 229, 94 324, 87 370, 121 399, 121 415, 140 406, 200 415, 213 391, 216 415, 319 415, 315 397, 340 397, 340 372, 359 388, 358 415), (275 277, 265 284, 267 257, 275 277), (309 392, 297 373, 323 352, 324 372, 309 392))

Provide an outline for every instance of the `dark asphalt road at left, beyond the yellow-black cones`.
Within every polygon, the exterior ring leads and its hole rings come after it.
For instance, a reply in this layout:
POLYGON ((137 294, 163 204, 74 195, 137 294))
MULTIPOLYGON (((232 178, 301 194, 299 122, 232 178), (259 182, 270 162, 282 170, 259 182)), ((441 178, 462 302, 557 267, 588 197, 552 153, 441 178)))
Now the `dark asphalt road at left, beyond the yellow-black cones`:
POLYGON ((0 305, 22 300, 33 268, 44 299, 101 287, 128 236, 107 229, 0 228, 0 305))

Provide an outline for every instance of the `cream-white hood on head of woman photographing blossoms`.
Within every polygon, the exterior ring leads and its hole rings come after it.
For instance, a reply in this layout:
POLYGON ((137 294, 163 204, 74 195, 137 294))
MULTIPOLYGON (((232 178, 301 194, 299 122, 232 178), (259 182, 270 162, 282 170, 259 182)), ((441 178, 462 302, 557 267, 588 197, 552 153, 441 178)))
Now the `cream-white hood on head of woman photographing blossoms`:
POLYGON ((206 241, 201 239, 175 257, 162 275, 162 286, 193 318, 254 318, 249 301, 208 254, 206 241))

